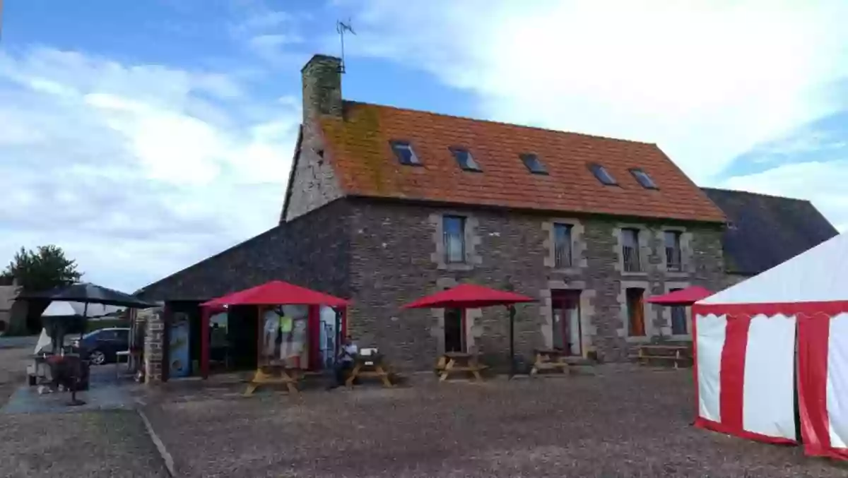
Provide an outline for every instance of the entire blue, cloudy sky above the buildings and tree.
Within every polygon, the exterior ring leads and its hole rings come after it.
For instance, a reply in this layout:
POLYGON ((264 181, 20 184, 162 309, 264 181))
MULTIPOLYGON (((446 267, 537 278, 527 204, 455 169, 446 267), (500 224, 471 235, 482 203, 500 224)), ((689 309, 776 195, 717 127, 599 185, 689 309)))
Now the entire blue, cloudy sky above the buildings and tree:
POLYGON ((848 2, 5 0, 0 265, 133 292, 277 224, 300 68, 343 96, 655 142, 848 229, 848 2))

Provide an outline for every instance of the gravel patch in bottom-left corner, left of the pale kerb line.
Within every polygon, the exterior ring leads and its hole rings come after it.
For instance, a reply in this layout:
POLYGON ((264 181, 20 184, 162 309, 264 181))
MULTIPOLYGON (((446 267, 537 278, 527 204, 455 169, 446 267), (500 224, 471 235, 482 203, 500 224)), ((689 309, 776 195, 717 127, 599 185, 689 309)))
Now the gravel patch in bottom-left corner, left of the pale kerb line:
POLYGON ((166 477, 134 411, 0 415, 0 476, 166 477))

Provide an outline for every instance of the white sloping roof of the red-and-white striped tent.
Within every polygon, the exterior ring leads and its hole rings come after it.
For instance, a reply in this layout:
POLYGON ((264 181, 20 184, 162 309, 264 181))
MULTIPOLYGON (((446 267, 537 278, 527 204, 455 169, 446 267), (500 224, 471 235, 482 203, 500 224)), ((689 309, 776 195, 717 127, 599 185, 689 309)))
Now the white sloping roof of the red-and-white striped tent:
POLYGON ((698 304, 844 302, 846 276, 848 235, 840 234, 698 304))

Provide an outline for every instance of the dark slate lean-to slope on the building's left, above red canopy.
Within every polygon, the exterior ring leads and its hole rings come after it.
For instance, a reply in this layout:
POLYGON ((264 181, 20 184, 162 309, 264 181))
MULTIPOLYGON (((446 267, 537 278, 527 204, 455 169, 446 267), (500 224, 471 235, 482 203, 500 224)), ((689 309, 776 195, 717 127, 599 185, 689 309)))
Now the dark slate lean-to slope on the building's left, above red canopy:
POLYGON ((209 300, 267 281, 288 281, 337 297, 347 287, 349 205, 337 200, 142 287, 145 300, 209 300))

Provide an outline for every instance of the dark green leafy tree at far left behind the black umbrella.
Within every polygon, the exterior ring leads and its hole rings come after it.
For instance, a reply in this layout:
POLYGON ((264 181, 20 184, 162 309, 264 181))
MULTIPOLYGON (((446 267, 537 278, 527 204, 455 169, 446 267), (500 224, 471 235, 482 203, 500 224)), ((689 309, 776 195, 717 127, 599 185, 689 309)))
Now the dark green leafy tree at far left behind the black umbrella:
POLYGON ((26 292, 68 286, 79 282, 81 277, 82 273, 76 270, 76 261, 66 258, 62 248, 53 245, 29 251, 21 247, 3 271, 4 279, 17 279, 26 292))

